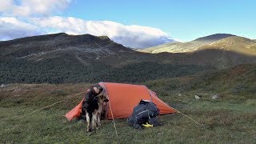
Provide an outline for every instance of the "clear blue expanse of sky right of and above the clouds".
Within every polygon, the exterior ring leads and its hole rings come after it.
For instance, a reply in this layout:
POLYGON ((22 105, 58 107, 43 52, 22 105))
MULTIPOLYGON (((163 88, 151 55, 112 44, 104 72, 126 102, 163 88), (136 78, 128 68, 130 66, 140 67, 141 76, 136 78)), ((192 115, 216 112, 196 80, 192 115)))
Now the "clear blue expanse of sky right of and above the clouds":
POLYGON ((174 38, 190 41, 216 33, 256 38, 255 7, 254 0, 78 0, 65 14, 156 27, 174 38))

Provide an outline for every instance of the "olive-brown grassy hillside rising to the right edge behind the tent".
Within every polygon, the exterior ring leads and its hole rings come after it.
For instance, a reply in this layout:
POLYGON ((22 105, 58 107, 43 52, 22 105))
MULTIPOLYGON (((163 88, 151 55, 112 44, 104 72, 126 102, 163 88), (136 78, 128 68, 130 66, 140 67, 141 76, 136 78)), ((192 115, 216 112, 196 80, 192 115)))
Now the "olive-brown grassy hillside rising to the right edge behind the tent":
MULTIPOLYGON (((165 78, 146 82, 147 86, 164 94, 171 90, 172 94, 221 94, 222 98, 235 98, 239 101, 254 99, 256 93, 256 65, 239 65, 223 70, 210 70, 201 74, 165 78)), ((256 103, 255 103, 256 104, 256 103)))

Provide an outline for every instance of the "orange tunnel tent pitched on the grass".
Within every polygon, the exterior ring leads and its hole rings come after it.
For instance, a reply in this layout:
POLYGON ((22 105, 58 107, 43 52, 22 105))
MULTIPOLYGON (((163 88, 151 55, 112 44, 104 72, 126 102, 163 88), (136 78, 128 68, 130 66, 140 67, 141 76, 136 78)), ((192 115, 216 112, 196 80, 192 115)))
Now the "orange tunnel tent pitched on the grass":
MULTIPOLYGON (((130 85, 124 83, 99 82, 103 88, 103 92, 108 96, 109 102, 106 107, 106 118, 128 118, 134 110, 134 106, 138 105, 141 99, 154 102, 160 114, 176 113, 174 109, 168 106, 165 102, 146 86, 130 85), (112 111, 112 114, 111 114, 112 111)), ((82 109, 82 101, 70 110, 65 116, 71 121, 73 118, 80 116, 82 109)))

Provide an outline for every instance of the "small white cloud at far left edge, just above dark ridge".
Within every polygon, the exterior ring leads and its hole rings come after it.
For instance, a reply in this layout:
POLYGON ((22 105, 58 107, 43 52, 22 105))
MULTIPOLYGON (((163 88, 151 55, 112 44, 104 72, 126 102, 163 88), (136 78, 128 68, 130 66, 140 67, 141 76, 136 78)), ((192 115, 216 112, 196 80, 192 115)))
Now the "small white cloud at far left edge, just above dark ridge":
POLYGON ((0 40, 22 38, 42 34, 42 30, 34 24, 22 22, 17 18, 0 18, 0 40))

